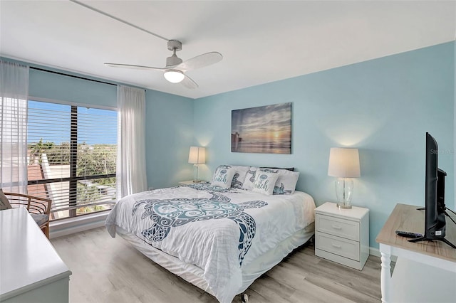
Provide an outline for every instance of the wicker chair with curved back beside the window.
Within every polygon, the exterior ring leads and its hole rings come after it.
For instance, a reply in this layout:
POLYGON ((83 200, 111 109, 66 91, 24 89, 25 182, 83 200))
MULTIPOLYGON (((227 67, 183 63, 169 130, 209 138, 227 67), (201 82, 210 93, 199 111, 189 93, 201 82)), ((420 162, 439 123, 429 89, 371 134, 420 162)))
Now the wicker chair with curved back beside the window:
POLYGON ((51 199, 28 196, 22 193, 4 193, 11 207, 25 207, 36 224, 49 238, 49 214, 51 213, 51 199))

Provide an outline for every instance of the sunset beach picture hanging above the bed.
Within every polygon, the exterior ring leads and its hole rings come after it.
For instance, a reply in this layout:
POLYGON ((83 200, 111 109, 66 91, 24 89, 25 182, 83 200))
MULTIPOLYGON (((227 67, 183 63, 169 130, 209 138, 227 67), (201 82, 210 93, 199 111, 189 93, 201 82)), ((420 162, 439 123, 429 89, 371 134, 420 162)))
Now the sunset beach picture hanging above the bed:
POLYGON ((291 102, 232 110, 231 151, 291 154, 291 102))

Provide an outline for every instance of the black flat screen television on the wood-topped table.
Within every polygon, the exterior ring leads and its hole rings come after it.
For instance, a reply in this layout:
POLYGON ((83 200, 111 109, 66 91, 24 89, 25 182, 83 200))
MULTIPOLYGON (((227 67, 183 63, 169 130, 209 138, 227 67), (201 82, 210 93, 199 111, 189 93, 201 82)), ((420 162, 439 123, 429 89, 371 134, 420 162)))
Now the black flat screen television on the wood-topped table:
POLYGON ((437 166, 437 141, 426 132, 426 179, 425 179, 425 233, 423 238, 410 240, 441 240, 452 248, 455 245, 445 239, 445 176, 437 166))

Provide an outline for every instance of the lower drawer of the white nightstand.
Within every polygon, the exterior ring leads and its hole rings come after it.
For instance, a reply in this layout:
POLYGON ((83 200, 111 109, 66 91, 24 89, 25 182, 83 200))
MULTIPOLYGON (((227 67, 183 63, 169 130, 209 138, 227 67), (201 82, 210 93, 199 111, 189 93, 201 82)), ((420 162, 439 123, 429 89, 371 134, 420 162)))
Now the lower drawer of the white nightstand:
POLYGON ((351 260, 360 260, 359 242, 338 238, 326 233, 316 233, 315 238, 316 248, 319 250, 348 257, 351 260))

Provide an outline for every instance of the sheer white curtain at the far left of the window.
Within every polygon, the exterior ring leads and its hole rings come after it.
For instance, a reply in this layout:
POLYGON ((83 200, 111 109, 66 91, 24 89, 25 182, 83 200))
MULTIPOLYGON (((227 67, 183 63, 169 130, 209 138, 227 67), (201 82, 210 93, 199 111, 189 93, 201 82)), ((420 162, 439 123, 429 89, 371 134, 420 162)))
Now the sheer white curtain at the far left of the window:
POLYGON ((28 66, 0 60, 0 188, 27 193, 28 66))

